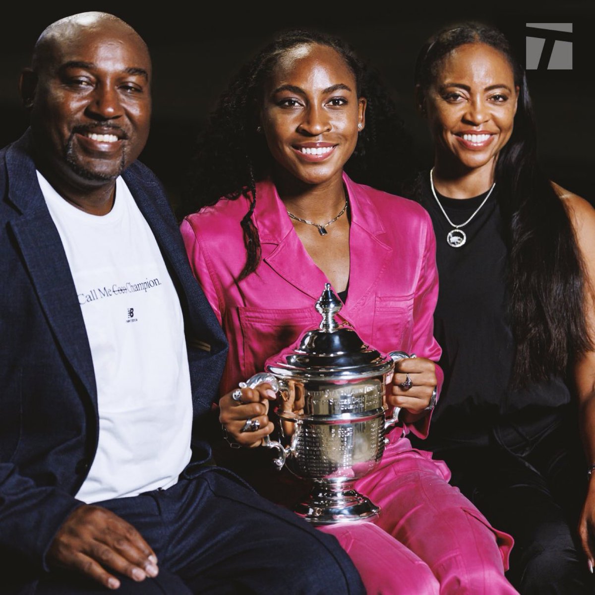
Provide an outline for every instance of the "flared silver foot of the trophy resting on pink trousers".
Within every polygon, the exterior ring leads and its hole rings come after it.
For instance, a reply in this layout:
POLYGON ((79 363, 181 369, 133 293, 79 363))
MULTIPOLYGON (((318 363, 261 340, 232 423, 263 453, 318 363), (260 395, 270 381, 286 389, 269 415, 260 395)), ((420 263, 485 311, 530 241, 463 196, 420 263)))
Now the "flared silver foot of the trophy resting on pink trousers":
POLYGON ((336 525, 370 521, 380 507, 354 490, 353 480, 315 480, 308 498, 293 510, 313 525, 336 525))

